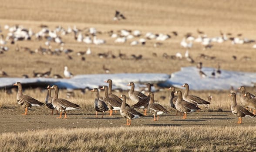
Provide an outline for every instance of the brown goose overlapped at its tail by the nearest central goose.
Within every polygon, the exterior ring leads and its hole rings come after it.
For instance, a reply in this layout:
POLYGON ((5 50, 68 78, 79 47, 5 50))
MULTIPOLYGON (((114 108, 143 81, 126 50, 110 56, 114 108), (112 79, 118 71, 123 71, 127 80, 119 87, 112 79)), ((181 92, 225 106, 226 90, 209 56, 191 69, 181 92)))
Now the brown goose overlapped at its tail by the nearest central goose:
POLYGON ((121 103, 116 101, 114 98, 108 96, 108 86, 103 86, 101 89, 104 89, 103 101, 108 103, 108 109, 110 109, 110 116, 112 115, 113 110, 120 110, 121 103))

